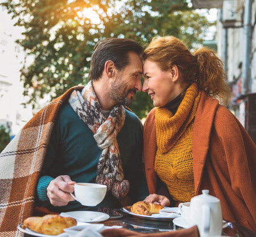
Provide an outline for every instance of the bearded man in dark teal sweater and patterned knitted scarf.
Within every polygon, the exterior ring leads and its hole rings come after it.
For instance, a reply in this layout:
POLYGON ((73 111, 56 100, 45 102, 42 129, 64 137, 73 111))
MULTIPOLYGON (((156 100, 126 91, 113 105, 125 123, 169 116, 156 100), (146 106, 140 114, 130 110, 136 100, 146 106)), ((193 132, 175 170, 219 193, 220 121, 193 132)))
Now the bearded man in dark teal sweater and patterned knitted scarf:
MULTIPOLYGON (((129 187, 125 186, 126 181, 123 181, 123 176, 131 183, 130 195, 133 196, 133 200, 138 200, 138 198, 143 200, 147 191, 144 187, 138 188, 139 184, 140 186, 146 185, 145 182, 143 183, 141 166, 142 129, 135 114, 120 106, 130 106, 136 91, 142 90, 140 77, 143 71, 139 56, 141 52, 141 46, 130 39, 110 38, 96 44, 91 57, 90 82, 86 86, 88 88, 84 88, 81 93, 73 92, 56 118, 42 168, 43 176, 37 186, 38 204, 43 204, 54 212, 86 209, 87 207, 76 201, 70 202, 74 200, 69 195, 74 191, 73 181, 95 182, 96 180, 99 184, 108 185, 109 176, 121 176, 118 182, 121 182, 123 189, 126 190, 118 190, 114 193, 112 186, 114 184, 109 185, 107 196, 99 204, 101 207, 120 207, 120 198, 126 196, 120 193, 127 194, 129 191, 129 187), (78 97, 81 98, 78 99, 78 97), (92 101, 96 100, 98 103, 95 105, 91 103, 91 108, 89 108, 90 106, 85 106, 85 104, 86 99, 89 102, 91 98, 93 98, 92 101), (80 105, 77 106, 76 103, 80 105), (108 155, 103 155, 104 149, 99 148, 107 138, 101 141, 95 136, 100 136, 99 126, 106 118, 113 117, 114 120, 119 116, 120 120, 123 119, 121 122, 123 126, 116 122, 115 127, 118 127, 120 131, 117 135, 116 148, 119 149, 121 159, 118 157, 118 164, 115 168, 111 167, 113 169, 111 170, 108 167, 100 167, 100 162, 106 163, 108 160, 108 155), (95 135, 94 129, 95 131, 98 129, 95 135), (99 171, 104 168, 109 169, 105 174, 99 171), (118 175, 118 173, 121 174, 118 175), (102 177, 104 175, 107 177, 102 177), (141 191, 144 193, 138 193, 141 191)), ((112 126, 109 129, 113 129, 112 126)), ((111 146, 105 147, 107 153, 109 149, 111 146)), ((120 155, 117 151, 117 156, 120 155)), ((115 154, 110 154, 110 161, 111 156, 115 154)), ((129 182, 127 184, 129 185, 129 182)))

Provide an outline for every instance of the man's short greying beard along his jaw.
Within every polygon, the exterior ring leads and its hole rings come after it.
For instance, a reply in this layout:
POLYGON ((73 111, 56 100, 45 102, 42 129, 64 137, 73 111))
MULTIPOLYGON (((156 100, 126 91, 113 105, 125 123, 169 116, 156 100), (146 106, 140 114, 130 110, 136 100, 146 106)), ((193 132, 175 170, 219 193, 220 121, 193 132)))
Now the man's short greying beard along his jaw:
POLYGON ((129 107, 131 106, 131 104, 133 104, 133 96, 131 97, 131 99, 129 99, 127 96, 130 92, 133 92, 135 95, 136 90, 134 88, 128 88, 128 83, 122 84, 121 75, 118 75, 116 80, 111 83, 109 97, 111 97, 112 100, 116 101, 117 104, 129 107))

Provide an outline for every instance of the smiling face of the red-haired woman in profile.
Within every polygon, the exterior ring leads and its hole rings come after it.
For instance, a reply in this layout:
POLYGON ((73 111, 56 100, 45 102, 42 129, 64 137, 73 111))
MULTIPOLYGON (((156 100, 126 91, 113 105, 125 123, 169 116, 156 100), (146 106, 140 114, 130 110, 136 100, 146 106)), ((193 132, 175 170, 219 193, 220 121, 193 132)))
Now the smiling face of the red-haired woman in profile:
POLYGON ((148 92, 155 107, 165 106, 179 95, 171 69, 162 71, 155 62, 145 60, 143 65, 143 92, 148 92))

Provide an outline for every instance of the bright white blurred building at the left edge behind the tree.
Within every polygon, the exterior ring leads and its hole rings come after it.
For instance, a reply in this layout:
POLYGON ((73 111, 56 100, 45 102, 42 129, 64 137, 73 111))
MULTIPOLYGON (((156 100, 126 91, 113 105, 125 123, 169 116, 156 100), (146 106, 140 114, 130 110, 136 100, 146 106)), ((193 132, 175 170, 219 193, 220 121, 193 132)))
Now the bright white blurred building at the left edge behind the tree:
POLYGON ((0 6, 0 126, 10 130, 11 137, 28 122, 32 106, 22 105, 23 83, 20 82, 20 69, 25 53, 15 43, 21 37, 21 29, 14 26, 10 14, 0 6))

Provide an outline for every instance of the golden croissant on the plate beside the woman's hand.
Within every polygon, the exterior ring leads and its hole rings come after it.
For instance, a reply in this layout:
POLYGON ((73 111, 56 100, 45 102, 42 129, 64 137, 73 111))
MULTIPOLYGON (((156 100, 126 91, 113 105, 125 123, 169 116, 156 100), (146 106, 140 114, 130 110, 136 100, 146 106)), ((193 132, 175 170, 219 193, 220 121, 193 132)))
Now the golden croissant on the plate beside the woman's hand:
POLYGON ((164 209, 164 207, 161 205, 140 201, 133 204, 133 207, 131 207, 131 212, 151 216, 151 214, 159 213, 161 209, 164 209))

